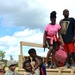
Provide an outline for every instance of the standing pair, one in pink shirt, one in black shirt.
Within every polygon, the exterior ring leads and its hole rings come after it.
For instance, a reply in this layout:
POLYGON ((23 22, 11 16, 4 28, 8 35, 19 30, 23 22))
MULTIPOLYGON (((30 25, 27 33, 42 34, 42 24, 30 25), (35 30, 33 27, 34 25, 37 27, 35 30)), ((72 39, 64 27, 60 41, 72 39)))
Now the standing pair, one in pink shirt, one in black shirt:
MULTIPOLYGON (((50 13, 50 21, 45 27, 45 32, 43 36, 43 47, 48 48, 47 59, 45 62, 46 67, 48 67, 48 60, 50 54, 52 53, 52 62, 50 68, 55 66, 55 52, 62 46, 64 51, 67 53, 68 57, 66 62, 63 63, 63 66, 72 67, 75 66, 75 19, 69 17, 69 10, 63 10, 64 18, 60 20, 59 24, 56 23, 56 11, 50 13), (58 36, 57 36, 58 34, 58 36), (73 60, 70 63, 70 59, 73 60)), ((63 55, 62 55, 63 56, 63 55)))

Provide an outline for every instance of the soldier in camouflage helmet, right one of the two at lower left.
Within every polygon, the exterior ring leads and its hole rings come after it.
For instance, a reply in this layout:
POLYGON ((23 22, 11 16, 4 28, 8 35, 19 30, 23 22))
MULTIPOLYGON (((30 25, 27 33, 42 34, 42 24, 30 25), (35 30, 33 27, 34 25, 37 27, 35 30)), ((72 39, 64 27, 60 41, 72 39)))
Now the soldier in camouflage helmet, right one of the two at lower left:
POLYGON ((9 60, 7 62, 7 66, 9 68, 8 71, 6 71, 5 75, 19 75, 17 71, 15 71, 17 62, 15 60, 9 60))

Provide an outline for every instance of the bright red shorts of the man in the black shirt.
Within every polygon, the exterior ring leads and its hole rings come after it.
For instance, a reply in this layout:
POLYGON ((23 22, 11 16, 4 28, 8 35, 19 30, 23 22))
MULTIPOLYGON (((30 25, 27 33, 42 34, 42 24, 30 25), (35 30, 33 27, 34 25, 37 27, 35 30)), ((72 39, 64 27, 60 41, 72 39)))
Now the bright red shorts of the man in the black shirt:
POLYGON ((66 51, 67 54, 75 52, 74 43, 73 42, 65 43, 64 50, 66 51))

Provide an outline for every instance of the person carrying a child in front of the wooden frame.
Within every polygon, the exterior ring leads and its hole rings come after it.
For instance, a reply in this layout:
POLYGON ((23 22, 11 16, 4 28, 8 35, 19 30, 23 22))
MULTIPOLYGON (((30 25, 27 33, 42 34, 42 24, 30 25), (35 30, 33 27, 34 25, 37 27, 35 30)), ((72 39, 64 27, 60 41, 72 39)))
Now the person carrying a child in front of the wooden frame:
POLYGON ((29 49, 28 54, 31 58, 23 63, 24 75, 46 75, 46 67, 42 58, 37 55, 36 50, 34 48, 29 49))

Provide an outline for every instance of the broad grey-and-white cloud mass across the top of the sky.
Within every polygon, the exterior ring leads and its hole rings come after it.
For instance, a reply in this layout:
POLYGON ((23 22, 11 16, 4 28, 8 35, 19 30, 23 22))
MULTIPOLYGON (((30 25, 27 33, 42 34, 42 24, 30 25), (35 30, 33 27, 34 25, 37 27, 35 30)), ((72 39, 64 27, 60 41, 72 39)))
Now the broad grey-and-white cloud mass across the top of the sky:
POLYGON ((63 18, 62 11, 67 8, 74 16, 75 1, 71 0, 0 0, 2 24, 8 27, 39 28, 43 30, 49 23, 49 13, 57 11, 57 22, 63 18))

